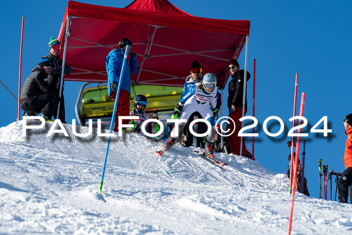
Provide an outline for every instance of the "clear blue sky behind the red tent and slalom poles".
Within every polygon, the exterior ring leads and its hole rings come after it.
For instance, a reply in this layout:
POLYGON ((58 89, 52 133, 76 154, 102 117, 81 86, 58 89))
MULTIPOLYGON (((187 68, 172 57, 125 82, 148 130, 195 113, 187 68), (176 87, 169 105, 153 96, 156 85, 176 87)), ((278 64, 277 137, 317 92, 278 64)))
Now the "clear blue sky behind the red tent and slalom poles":
MULTIPOLYGON (((132 0, 81 1, 125 7, 132 0)), ((342 172, 346 135, 343 118, 352 113, 349 82, 352 73, 352 21, 350 1, 170 1, 181 10, 199 17, 250 20, 248 41, 248 70, 253 73, 256 59, 255 117, 259 137, 255 141, 255 158, 267 169, 284 173, 290 149, 286 145, 287 132, 292 123, 295 73, 298 77, 297 115, 301 93, 306 93, 304 116, 309 129, 323 116, 328 117, 328 137, 309 133, 306 144, 306 177, 311 196, 319 197, 318 164, 329 170, 342 172), (269 116, 285 122, 284 133, 269 137, 262 124, 269 116)), ((48 53, 50 37, 57 37, 67 1, 2 1, 0 18, 3 35, 0 39, 2 56, 0 80, 17 96, 22 16, 25 16, 22 85, 31 69, 48 53)), ((118 41, 119 39, 117 39, 118 41)), ((244 50, 239 64, 244 67, 244 50)), ((75 118, 74 105, 82 83, 65 83, 66 121, 75 118)), ((248 82, 248 112, 252 115, 252 78, 248 82)), ((227 87, 226 89, 227 90, 227 87)), ((17 118, 17 101, 0 85, 3 115, 0 126, 17 118)), ((225 109, 226 110, 226 109, 225 109)), ((271 131, 279 130, 277 122, 270 122, 271 131)), ((320 126, 322 127, 322 125, 320 126)), ((247 146, 251 148, 251 138, 247 146)), ((301 148, 302 149, 302 148, 301 148)), ((334 180, 334 179, 333 179, 334 180)), ((329 185, 329 184, 328 184, 329 185)), ((334 186, 333 186, 334 187, 334 186)), ((334 194, 335 188, 333 188, 334 194)), ((334 196, 333 196, 334 197, 334 196)), ((328 196, 330 198, 330 196, 328 196)))

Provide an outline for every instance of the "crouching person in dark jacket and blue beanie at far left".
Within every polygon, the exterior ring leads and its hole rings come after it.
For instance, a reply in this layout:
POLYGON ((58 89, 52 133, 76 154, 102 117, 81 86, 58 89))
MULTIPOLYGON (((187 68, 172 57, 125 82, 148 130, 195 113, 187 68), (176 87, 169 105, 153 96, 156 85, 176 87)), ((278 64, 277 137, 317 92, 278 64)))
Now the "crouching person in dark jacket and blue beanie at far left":
POLYGON ((53 89, 48 83, 52 68, 50 59, 41 59, 27 77, 21 92, 21 108, 26 116, 42 113, 45 121, 51 121, 60 101, 60 97, 51 92, 53 89))

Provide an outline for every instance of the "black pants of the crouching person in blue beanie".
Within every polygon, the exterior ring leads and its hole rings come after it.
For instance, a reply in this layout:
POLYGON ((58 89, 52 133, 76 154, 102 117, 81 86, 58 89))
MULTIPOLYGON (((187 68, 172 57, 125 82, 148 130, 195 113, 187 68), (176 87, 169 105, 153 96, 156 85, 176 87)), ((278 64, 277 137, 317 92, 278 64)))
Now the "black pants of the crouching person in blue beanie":
POLYGON ((30 105, 26 107, 28 112, 38 112, 41 110, 41 113, 47 116, 49 119, 57 112, 57 105, 59 104, 60 97, 56 94, 43 94, 37 95, 31 102, 30 105))

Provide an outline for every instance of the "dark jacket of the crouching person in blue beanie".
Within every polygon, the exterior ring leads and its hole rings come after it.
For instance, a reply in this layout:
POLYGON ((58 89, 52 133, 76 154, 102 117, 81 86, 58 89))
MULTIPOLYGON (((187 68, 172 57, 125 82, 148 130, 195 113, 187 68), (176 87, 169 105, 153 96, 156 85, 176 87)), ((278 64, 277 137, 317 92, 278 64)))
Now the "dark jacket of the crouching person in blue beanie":
POLYGON ((32 73, 27 77, 21 92, 21 105, 24 102, 31 104, 32 100, 43 94, 51 93, 51 87, 48 84, 48 74, 40 65, 32 69, 32 73))

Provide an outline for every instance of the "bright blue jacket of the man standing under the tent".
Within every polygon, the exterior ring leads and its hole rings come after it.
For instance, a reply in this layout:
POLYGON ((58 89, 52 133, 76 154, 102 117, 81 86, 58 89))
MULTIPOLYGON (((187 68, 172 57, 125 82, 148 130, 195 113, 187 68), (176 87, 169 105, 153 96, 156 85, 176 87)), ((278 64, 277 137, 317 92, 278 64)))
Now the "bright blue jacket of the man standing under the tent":
MULTIPOLYGON (((106 71, 108 73, 108 91, 109 97, 113 90, 111 89, 112 83, 118 83, 120 79, 120 73, 122 69, 124 52, 121 48, 112 50, 105 58, 106 71)), ((130 61, 126 60, 124 73, 122 75, 121 90, 128 91, 131 94, 131 74, 138 71, 137 56, 130 58, 130 61)))

